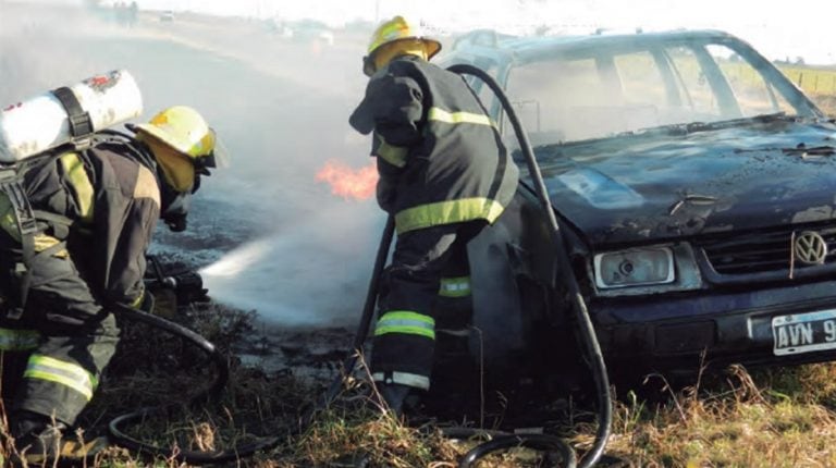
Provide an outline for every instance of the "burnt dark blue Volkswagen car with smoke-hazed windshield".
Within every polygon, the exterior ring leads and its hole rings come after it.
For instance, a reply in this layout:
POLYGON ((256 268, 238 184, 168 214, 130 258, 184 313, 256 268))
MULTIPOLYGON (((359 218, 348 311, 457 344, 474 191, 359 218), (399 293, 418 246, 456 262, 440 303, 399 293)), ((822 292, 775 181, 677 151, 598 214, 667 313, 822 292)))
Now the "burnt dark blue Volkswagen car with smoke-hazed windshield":
MULTIPOLYGON (((836 358, 836 126, 748 44, 482 30, 452 49, 441 64, 491 74, 528 131, 611 373, 836 358)), ((499 100, 466 79, 522 169, 469 246, 471 348, 571 368, 563 247, 499 100)))

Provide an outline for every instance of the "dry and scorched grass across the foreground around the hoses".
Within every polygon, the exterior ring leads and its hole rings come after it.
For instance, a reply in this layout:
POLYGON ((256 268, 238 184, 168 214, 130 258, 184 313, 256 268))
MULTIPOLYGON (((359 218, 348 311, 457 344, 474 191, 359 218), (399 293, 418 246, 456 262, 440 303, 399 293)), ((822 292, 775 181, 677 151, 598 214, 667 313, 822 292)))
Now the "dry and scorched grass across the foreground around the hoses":
MULTIPOLYGON (((155 337, 144 325, 132 325, 120 349, 122 359, 83 415, 85 431, 74 436, 89 441, 101 435, 115 415, 140 405, 179 402, 171 412, 126 431, 172 451, 229 449, 278 436, 262 453, 222 464, 255 468, 353 466, 353 458, 366 458, 368 466, 455 467, 476 444, 445 439, 441 424, 407 426, 394 419, 369 396, 373 389, 362 379, 349 379, 333 405, 315 412, 311 423, 296 431, 328 382, 239 366, 233 344, 251 332, 245 316, 208 308, 189 319, 202 323, 202 332, 226 347, 232 379, 222 398, 202 407, 188 405, 188 395, 211 381, 211 366, 176 340, 155 337)), ((644 385, 616 386, 615 392, 619 397, 606 453, 634 466, 836 466, 836 364, 753 372, 736 366, 680 390, 666 385, 664 377, 649 375, 644 385), (661 389, 661 396, 651 389, 661 389)), ((560 432, 579 453, 592 445, 595 424, 583 409, 570 408, 563 424, 560 432)), ((7 459, 15 451, 9 442, 2 452, 7 459)), ((172 456, 149 459, 112 447, 87 466, 187 465, 172 456)), ((517 449, 492 455, 479 466, 543 465, 539 454, 517 449)))

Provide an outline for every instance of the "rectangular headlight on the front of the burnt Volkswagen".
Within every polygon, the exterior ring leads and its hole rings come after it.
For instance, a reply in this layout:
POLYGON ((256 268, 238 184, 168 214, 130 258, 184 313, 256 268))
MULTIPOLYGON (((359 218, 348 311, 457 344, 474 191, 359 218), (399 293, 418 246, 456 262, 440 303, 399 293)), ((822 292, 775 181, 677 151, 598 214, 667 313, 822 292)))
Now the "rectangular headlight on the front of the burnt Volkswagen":
POLYGON ((595 284, 613 287, 667 284, 675 280, 674 255, 668 247, 648 247, 598 254, 595 284))

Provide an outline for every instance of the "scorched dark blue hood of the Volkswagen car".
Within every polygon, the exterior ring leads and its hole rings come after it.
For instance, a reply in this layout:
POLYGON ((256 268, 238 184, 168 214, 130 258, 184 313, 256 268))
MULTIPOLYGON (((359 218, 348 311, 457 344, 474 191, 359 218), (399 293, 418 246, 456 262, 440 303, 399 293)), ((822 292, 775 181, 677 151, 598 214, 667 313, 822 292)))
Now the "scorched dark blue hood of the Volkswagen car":
POLYGON ((779 121, 536 149, 556 210, 592 245, 836 217, 836 127, 779 121))

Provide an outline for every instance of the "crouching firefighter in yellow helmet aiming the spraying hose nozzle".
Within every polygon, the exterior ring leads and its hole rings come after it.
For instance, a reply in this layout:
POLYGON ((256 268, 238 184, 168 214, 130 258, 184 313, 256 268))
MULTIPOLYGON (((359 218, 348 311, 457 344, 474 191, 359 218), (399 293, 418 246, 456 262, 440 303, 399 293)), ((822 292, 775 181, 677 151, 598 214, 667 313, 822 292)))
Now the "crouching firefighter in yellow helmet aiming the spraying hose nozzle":
POLYGON ((188 107, 171 107, 135 135, 38 156, 22 175, 36 231, 22 234, 0 192, 2 398, 28 463, 65 453, 62 435, 93 398, 120 329, 113 305, 153 308, 143 276, 158 219, 186 227, 189 197, 221 151, 188 107), (28 250, 28 253, 27 253, 28 250))

